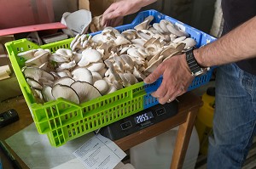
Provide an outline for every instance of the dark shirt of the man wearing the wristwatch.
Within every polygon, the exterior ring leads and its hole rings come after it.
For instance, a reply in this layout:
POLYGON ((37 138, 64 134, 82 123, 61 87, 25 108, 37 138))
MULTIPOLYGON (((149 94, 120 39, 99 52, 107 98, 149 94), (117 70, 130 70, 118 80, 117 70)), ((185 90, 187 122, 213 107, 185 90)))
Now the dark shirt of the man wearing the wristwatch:
MULTIPOLYGON (((256 0, 222 0, 222 9, 224 35, 256 15, 256 0)), ((239 61, 236 65, 242 70, 256 75, 256 58, 239 61)))

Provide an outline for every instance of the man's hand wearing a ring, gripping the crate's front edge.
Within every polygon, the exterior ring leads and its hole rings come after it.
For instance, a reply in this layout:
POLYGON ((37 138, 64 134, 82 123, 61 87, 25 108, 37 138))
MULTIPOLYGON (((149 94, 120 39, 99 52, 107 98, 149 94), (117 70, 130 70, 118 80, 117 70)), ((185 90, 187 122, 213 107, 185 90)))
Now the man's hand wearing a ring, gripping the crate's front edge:
POLYGON ((160 104, 172 102, 177 96, 185 93, 193 81, 185 54, 175 55, 161 63, 153 73, 144 79, 145 83, 155 82, 160 76, 163 81, 151 95, 159 99, 160 104))

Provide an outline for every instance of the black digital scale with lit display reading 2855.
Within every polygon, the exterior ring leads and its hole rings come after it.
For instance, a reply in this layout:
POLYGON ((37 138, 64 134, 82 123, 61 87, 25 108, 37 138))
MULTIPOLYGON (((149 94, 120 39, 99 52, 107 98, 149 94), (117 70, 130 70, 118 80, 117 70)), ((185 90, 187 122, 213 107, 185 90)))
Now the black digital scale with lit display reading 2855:
POLYGON ((176 114, 177 100, 166 104, 156 104, 146 110, 113 122, 107 127, 102 127, 100 133, 114 141, 164 121, 176 114))

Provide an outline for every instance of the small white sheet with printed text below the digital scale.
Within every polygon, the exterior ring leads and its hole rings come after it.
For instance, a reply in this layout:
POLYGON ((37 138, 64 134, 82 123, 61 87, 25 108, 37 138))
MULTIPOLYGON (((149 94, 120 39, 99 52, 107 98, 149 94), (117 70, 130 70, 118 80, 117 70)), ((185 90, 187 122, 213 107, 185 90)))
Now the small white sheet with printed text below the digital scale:
POLYGON ((74 151, 73 155, 83 162, 86 169, 113 169, 126 154, 113 141, 97 134, 74 151))

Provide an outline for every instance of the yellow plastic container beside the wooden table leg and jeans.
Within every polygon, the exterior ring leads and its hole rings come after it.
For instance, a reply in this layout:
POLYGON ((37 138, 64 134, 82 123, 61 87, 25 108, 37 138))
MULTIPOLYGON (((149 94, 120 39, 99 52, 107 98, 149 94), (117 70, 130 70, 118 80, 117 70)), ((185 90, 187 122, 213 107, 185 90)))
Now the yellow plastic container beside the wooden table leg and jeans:
POLYGON ((202 96, 202 100, 204 104, 197 115, 197 119, 195 121, 195 128, 198 132, 198 137, 200 141, 199 152, 202 155, 207 155, 208 136, 212 134, 212 120, 215 97, 214 95, 212 96, 204 93, 202 96))

